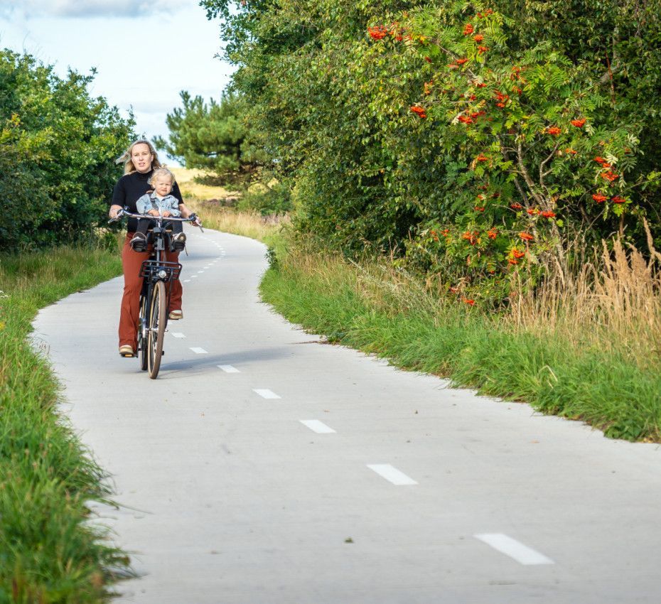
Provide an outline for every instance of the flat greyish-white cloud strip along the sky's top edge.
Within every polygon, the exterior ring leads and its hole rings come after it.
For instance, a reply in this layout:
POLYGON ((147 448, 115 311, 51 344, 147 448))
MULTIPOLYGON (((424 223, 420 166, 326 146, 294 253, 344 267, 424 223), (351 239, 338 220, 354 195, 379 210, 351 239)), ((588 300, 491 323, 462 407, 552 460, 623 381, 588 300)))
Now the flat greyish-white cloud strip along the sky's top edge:
POLYGON ((26 19, 42 17, 135 17, 169 14, 190 6, 190 0, 0 0, 5 14, 18 12, 26 19))

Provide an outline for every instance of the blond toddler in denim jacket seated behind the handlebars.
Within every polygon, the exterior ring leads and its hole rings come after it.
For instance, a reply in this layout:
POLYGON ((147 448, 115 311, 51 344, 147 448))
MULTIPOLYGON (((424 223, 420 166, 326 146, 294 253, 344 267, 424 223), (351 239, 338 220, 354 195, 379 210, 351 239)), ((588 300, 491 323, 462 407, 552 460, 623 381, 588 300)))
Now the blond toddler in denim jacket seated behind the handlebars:
MULTIPOLYGON (((130 245, 136 252, 144 252, 147 247, 147 229, 151 224, 151 218, 147 216, 181 216, 179 211, 179 200, 170 195, 175 183, 174 174, 168 168, 156 168, 151 178, 148 180, 149 184, 154 188, 151 193, 142 195, 136 201, 136 207, 139 214, 144 214, 146 217, 138 220, 138 228, 130 245)), ((183 225, 178 220, 171 220, 163 222, 163 226, 171 225, 172 227, 172 249, 173 251, 181 250, 186 245, 186 234, 183 232, 183 225)))

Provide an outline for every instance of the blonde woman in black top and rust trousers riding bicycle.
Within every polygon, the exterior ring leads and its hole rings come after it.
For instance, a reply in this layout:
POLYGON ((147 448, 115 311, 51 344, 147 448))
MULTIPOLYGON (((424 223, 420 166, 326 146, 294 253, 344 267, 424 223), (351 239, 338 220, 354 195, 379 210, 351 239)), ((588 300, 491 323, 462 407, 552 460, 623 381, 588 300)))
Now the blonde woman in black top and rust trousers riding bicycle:
MULTIPOLYGON (((134 141, 129 148, 119 156, 117 163, 124 162, 124 176, 117 180, 112 193, 112 202, 110 205, 109 216, 117 217, 117 212, 127 207, 129 212, 137 213, 136 202, 151 190, 149 179, 155 168, 161 168, 161 162, 158 161, 156 149, 149 141, 140 139, 134 141)), ((186 204, 183 203, 181 191, 175 183, 171 195, 179 201, 179 211, 181 217, 188 218, 191 212, 186 204)), ((142 288, 142 279, 140 277, 140 267, 142 262, 149 258, 149 251, 136 252, 131 249, 131 239, 134 238, 138 227, 138 221, 134 218, 129 219, 127 224, 127 236, 124 239, 122 249, 122 268, 124 269, 124 295, 122 296, 122 306, 119 312, 119 355, 122 357, 134 357, 137 348, 137 325, 140 305, 140 291, 142 288)), ((177 262, 179 252, 166 252, 166 259, 171 262, 177 262)), ((181 281, 173 281, 170 293, 170 320, 183 318, 181 311, 182 296, 181 281)))

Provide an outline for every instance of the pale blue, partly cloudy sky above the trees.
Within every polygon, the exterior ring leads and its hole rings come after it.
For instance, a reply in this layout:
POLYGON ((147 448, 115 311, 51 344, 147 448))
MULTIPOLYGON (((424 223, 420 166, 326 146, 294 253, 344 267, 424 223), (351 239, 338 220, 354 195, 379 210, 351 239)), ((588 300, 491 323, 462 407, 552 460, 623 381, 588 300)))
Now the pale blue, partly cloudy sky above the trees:
POLYGON ((90 85, 136 131, 167 136, 166 114, 179 92, 218 99, 232 67, 220 53, 220 22, 208 21, 198 0, 0 0, 0 47, 53 65, 97 75, 90 85))

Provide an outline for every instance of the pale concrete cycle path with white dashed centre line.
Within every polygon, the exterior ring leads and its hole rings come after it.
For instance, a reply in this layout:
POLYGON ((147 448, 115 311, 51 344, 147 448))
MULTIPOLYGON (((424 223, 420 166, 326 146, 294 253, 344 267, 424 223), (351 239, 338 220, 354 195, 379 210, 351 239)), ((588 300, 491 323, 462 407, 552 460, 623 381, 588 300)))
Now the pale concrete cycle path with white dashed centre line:
POLYGON ((122 506, 115 601, 661 600, 657 446, 323 345, 259 302, 262 244, 188 247, 156 380, 117 355, 121 279, 35 323, 122 506))

